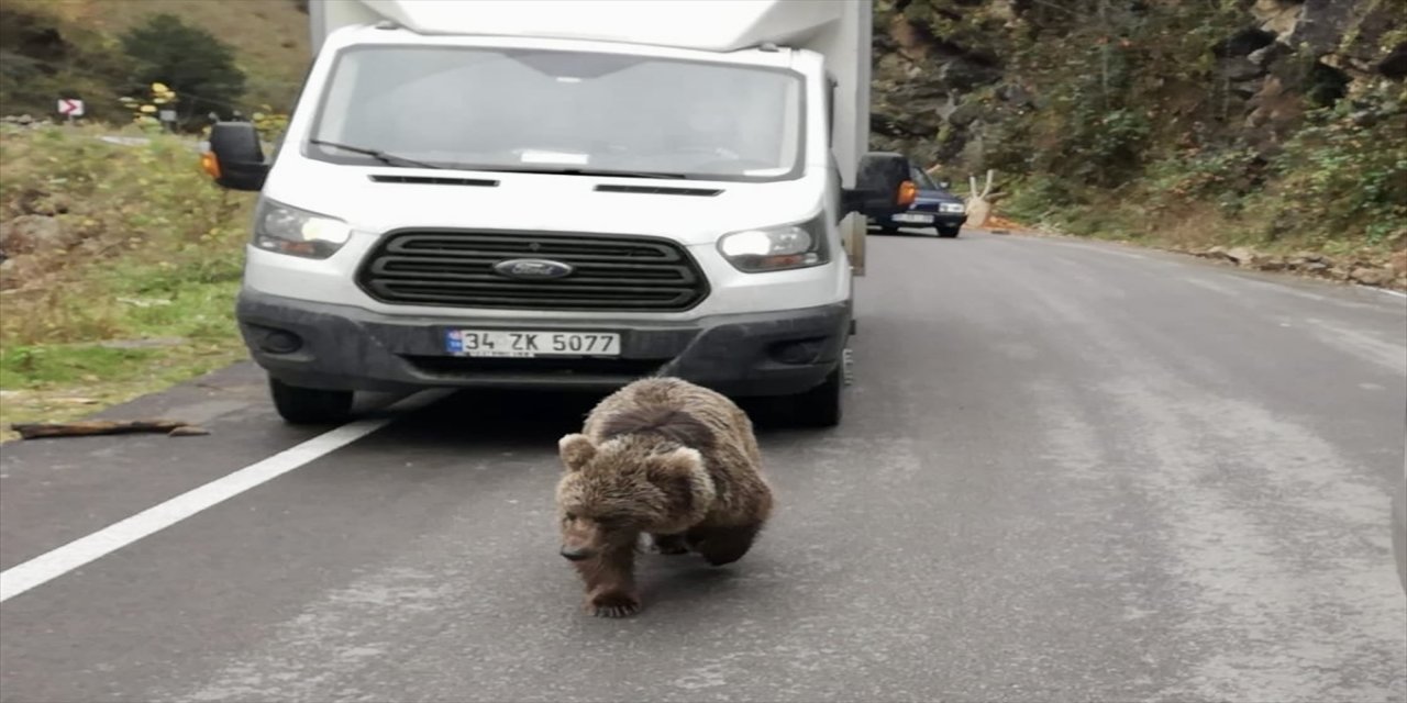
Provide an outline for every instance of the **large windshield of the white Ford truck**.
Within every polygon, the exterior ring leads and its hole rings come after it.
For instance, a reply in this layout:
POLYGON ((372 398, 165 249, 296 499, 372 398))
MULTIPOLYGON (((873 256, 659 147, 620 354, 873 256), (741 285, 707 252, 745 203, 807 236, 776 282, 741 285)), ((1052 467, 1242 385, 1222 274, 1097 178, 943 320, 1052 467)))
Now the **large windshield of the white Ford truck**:
POLYGON ((781 180, 802 165, 802 114, 801 77, 778 69, 376 46, 338 59, 308 149, 339 163, 781 180))

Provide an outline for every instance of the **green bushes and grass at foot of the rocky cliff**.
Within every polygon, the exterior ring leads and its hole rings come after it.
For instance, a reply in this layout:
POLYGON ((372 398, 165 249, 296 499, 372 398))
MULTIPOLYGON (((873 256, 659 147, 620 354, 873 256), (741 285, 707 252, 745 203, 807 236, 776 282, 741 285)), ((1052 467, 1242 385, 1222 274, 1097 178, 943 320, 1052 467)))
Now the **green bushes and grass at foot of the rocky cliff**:
POLYGON ((1266 155, 1244 145, 1151 152, 1114 187, 1026 174, 1007 187, 1002 209, 1072 235, 1183 252, 1323 254, 1346 269, 1392 269, 1400 288, 1407 285, 1407 121, 1399 117, 1407 93, 1375 89, 1361 101, 1372 110, 1361 114, 1344 101, 1307 112, 1266 155))

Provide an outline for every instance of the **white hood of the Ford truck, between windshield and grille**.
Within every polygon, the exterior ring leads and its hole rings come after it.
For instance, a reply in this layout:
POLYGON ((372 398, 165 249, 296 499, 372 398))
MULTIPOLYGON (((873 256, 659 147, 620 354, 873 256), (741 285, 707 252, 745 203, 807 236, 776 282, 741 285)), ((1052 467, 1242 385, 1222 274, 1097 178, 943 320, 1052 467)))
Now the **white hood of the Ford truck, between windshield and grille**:
POLYGON ((727 232, 808 219, 826 193, 823 176, 736 183, 367 167, 288 156, 269 174, 265 197, 373 233, 518 229, 706 245, 727 232))

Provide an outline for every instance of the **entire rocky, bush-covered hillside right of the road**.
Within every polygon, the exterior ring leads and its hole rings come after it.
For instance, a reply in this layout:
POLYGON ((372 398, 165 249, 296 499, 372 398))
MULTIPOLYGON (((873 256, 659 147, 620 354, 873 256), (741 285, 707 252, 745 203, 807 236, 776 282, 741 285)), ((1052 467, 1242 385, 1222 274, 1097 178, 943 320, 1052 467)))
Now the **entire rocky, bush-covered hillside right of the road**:
POLYGON ((995 169, 999 214, 1345 280, 1407 249, 1403 0, 877 0, 875 30, 875 146, 995 169))

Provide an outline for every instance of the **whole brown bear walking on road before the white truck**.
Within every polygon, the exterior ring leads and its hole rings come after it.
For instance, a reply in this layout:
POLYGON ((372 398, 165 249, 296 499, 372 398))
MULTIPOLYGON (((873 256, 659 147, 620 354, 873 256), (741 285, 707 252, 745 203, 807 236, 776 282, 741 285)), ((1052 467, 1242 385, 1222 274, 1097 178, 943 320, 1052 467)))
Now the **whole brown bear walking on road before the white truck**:
POLYGON ((718 567, 743 558, 772 512, 747 413, 680 378, 620 388, 557 449, 561 555, 585 581, 587 610, 601 617, 640 609, 642 534, 661 554, 695 551, 718 567))

